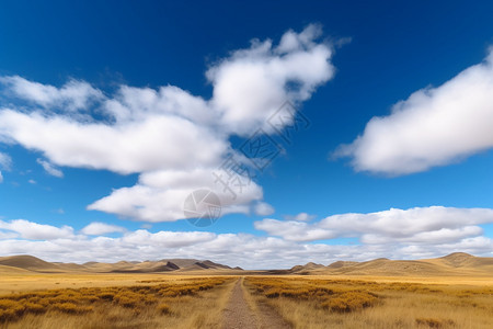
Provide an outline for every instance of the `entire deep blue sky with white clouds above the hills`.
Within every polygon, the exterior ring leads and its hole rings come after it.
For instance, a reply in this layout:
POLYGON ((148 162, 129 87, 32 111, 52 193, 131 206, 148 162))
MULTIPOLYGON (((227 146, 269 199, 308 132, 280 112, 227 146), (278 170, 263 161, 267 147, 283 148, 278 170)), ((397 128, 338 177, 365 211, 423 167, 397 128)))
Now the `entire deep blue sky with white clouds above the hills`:
POLYGON ((492 10, 2 2, 0 253, 491 256, 492 10), (267 123, 286 101, 310 122, 290 144, 267 123), (257 129, 283 147, 262 172, 240 150, 257 129), (256 174, 236 200, 213 180, 231 154, 256 174), (198 189, 221 198, 211 226, 183 214, 198 189))

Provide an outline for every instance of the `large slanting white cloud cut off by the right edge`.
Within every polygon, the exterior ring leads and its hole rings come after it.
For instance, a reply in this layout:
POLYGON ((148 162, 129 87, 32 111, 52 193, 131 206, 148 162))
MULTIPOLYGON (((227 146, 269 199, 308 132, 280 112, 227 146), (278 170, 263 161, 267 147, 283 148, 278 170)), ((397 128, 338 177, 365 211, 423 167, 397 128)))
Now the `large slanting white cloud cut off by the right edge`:
POLYGON ((493 148, 493 48, 486 59, 374 117, 336 154, 358 171, 390 175, 444 166, 493 148))

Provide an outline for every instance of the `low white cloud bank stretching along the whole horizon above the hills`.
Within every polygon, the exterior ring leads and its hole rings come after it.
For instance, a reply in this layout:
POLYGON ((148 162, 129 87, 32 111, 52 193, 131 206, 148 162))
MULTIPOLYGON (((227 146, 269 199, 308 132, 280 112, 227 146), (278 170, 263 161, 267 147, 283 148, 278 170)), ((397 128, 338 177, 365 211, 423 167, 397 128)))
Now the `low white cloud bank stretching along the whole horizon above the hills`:
MULTIPOLYGON (((136 231, 123 231, 115 227, 93 223, 73 235, 71 227, 54 227, 41 225, 27 220, 0 222, 0 250, 2 254, 30 253, 48 261, 87 262, 104 261, 116 262, 121 260, 159 260, 170 258, 195 258, 209 259, 226 263, 231 266, 245 269, 282 269, 309 261, 329 264, 337 260, 366 261, 380 257, 392 259, 415 259, 440 257, 454 251, 465 251, 477 256, 491 257, 493 240, 481 236, 479 229, 474 228, 477 223, 491 222, 493 209, 450 209, 455 224, 443 226, 438 217, 440 209, 429 209, 431 224, 425 220, 409 229, 398 237, 397 230, 389 231, 385 226, 389 223, 402 220, 411 225, 417 214, 426 214, 425 209, 411 209, 414 215, 400 211, 397 214, 382 212, 381 219, 377 224, 366 224, 372 234, 383 237, 390 236, 388 240, 367 240, 356 245, 326 245, 307 242, 301 239, 293 239, 296 230, 309 229, 307 223, 280 222, 286 226, 279 227, 284 237, 259 237, 250 234, 214 234, 207 231, 156 231, 138 229, 136 231), (477 214, 482 219, 466 220, 465 214, 477 214), (488 219, 488 218, 490 219, 488 219), (406 218, 404 220, 404 218, 406 218), (408 220, 408 222, 406 222, 408 220), (293 226, 289 230, 288 225, 293 226), (106 237, 104 234, 113 231, 115 236, 106 237), (118 231, 117 231, 118 230, 118 231), (413 234, 414 232, 414 234, 413 234), (417 238, 416 238, 417 236, 417 238), (413 237, 410 239, 410 237, 413 237), (436 239, 438 237, 438 239, 436 239)), ((367 214, 374 216, 375 214, 367 214)), ((358 235, 353 229, 359 229, 364 218, 358 214, 339 215, 346 223, 333 223, 336 219, 328 219, 324 226, 339 229, 342 236, 358 235), (332 224, 331 224, 332 223, 332 224), (353 229, 349 226, 353 225, 353 229)), ((421 216, 419 216, 421 218, 421 216)), ((330 217, 329 217, 330 218, 330 217)), ((341 220, 336 220, 341 222, 341 220)), ((264 222, 267 225, 270 222, 264 222)), ((273 223, 271 222, 271 226, 273 223)), ((398 225, 399 226, 399 225, 398 225)), ((264 227, 266 229, 266 227, 264 227)), ((314 231, 316 228, 310 228, 314 231)), ((320 231, 324 228, 320 228, 320 231)), ((279 235, 279 234, 277 234, 279 235)), ((299 236, 299 235, 298 235, 299 236)), ((326 236, 311 234, 309 240, 324 239, 326 236)), ((306 239, 308 240, 308 239, 306 239)))

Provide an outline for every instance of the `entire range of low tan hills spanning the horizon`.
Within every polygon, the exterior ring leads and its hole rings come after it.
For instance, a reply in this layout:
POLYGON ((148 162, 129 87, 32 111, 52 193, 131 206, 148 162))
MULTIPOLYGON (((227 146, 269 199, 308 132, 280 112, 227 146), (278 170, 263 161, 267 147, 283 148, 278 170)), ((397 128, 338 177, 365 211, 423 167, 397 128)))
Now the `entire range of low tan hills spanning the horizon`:
POLYGON ((0 273, 188 273, 190 274, 299 274, 299 275, 376 275, 376 276, 492 276, 493 258, 455 252, 446 257, 422 260, 366 262, 336 261, 329 265, 307 263, 289 270, 243 271, 241 268, 196 259, 162 259, 159 261, 88 262, 84 264, 46 262, 32 256, 0 257, 0 273))

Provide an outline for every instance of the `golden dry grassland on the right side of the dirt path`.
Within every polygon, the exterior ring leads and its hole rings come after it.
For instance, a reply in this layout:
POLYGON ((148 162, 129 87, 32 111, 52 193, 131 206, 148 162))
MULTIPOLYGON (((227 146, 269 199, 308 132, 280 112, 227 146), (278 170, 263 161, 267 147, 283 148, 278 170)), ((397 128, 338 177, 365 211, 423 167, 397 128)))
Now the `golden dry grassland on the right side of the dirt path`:
POLYGON ((492 328, 493 286, 455 282, 250 276, 244 284, 295 328, 492 328))

